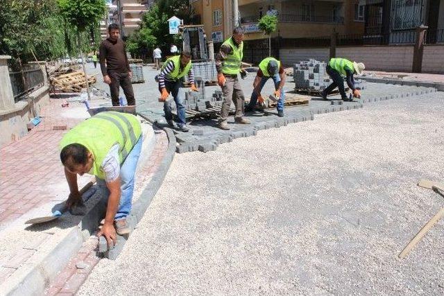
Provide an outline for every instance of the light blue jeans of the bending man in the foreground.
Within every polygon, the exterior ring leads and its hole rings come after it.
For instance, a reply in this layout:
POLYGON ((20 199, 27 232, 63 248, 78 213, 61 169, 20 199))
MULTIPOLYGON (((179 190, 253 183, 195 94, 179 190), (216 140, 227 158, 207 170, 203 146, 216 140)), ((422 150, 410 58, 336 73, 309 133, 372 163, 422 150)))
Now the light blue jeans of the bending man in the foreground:
MULTIPOLYGON (((134 174, 139 155, 142 151, 142 138, 143 136, 140 136, 139 141, 137 141, 133 150, 130 151, 130 154, 128 154, 125 162, 123 162, 120 167, 120 202, 114 220, 125 219, 126 216, 130 214, 131 208, 133 207, 134 174)), ((99 186, 105 186, 106 188, 105 180, 99 178, 96 179, 99 186)), ((108 191, 108 189, 107 192, 109 195, 110 191, 108 191)))

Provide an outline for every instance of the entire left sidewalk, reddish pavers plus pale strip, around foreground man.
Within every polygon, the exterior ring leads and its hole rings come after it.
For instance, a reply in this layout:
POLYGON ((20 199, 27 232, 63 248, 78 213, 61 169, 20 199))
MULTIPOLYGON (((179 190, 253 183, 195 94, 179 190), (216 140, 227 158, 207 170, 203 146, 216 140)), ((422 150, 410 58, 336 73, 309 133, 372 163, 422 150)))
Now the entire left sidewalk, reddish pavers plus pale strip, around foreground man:
MULTIPOLYGON (((81 216, 65 214, 57 221, 45 225, 24 225, 28 218, 51 214, 53 204, 66 200, 69 195, 59 159, 58 143, 67 130, 87 119, 89 114, 83 103, 71 102, 69 107, 64 108, 61 107, 64 101, 51 99, 49 105, 43 108, 40 114, 42 122, 37 127, 26 137, 0 149, 1 293, 42 292, 43 285, 46 286, 48 281, 54 279, 55 272, 62 270, 85 241, 82 238, 85 236, 85 226, 82 225, 81 216), (73 234, 76 234, 76 239, 69 241, 73 234), (54 254, 62 256, 56 256, 58 262, 48 261, 54 254), (32 279, 31 275, 39 277, 32 279), (30 286, 34 290, 26 290, 30 286)), ((91 105, 94 107, 103 103, 109 102, 97 100, 92 101, 91 105)), ((163 131, 157 130, 155 134, 151 125, 144 123, 144 126, 144 130, 147 127, 150 130, 144 137, 144 155, 139 161, 135 200, 144 185, 151 180, 168 146, 163 131)), ((89 182, 91 177, 79 177, 79 187, 89 182)), ((96 191, 88 200, 87 208, 91 209, 101 195, 101 191, 96 191)), ((91 245, 91 240, 85 244, 91 245)))

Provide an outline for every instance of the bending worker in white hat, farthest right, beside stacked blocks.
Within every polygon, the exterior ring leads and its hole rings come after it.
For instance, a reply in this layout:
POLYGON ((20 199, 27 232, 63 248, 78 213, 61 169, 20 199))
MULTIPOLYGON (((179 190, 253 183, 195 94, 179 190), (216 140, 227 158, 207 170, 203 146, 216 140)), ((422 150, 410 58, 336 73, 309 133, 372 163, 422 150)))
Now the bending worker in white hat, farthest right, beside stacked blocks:
POLYGON ((330 94, 333 89, 338 87, 339 93, 343 101, 350 101, 345 94, 344 79, 347 82, 348 87, 353 92, 353 97, 360 98, 361 92, 355 87, 354 74, 361 75, 366 67, 361 62, 351 62, 345 58, 332 58, 327 64, 327 73, 332 78, 333 82, 322 92, 322 98, 327 100, 328 94, 330 94))

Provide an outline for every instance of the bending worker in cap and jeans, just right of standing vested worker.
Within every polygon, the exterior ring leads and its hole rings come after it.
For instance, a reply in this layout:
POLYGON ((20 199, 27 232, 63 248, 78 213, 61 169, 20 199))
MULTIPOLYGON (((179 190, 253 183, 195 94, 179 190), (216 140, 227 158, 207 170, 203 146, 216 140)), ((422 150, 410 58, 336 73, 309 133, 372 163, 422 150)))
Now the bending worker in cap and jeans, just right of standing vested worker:
POLYGON ((246 112, 253 111, 257 101, 264 103, 261 91, 268 79, 272 79, 275 84, 275 98, 278 100, 278 116, 284 116, 284 84, 285 72, 280 61, 275 58, 264 58, 259 63, 259 70, 255 81, 253 82, 253 93, 251 94, 250 103, 245 108, 246 112))

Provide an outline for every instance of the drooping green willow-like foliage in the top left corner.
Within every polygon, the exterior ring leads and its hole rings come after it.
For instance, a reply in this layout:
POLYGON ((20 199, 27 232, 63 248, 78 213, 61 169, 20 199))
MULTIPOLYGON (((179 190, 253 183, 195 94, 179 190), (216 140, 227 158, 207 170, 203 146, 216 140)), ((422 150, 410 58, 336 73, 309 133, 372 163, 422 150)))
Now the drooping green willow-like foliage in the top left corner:
MULTIPOLYGON (((100 38, 99 26, 94 26, 100 38)), ((10 0, 0 5, 0 54, 22 61, 50 60, 65 55, 77 56, 79 49, 89 51, 89 33, 69 26, 57 0, 10 0)), ((96 39, 96 38, 95 38, 96 39)))

